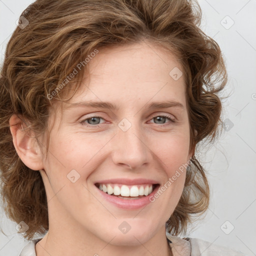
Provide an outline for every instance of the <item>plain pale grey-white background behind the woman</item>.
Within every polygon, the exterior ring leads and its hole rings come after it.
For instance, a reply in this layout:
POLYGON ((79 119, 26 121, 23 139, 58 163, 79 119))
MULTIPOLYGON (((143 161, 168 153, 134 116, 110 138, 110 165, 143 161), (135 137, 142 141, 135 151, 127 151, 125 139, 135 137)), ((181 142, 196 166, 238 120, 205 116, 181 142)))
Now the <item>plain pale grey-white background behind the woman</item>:
MULTIPOLYGON (((31 2, 0 0, 0 63, 15 21, 31 2)), ((256 0, 199 0, 199 4, 202 30, 222 49, 229 76, 225 93, 231 95, 223 102, 225 132, 214 146, 199 150, 211 202, 205 218, 187 236, 252 256, 256 255, 256 0)), ((7 234, 0 232, 0 256, 17 255, 26 243, 15 225, 0 209, 0 226, 7 234)))

